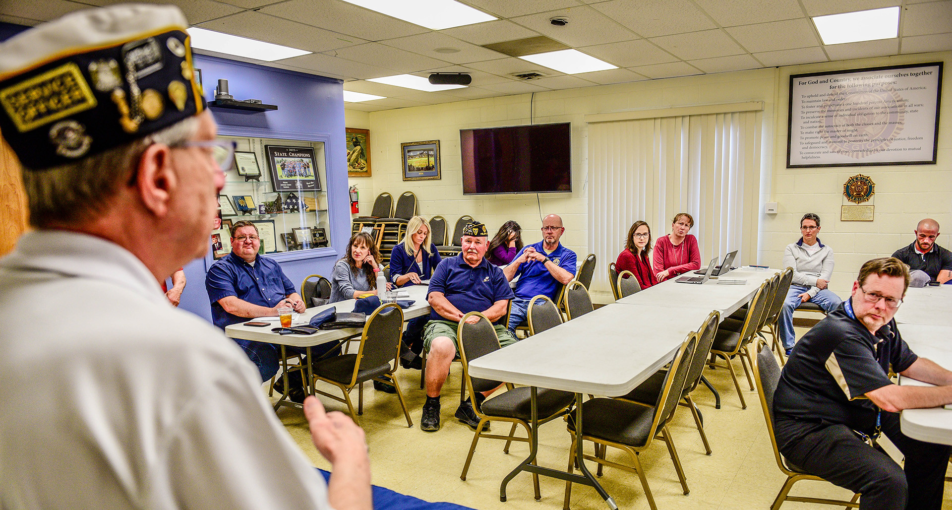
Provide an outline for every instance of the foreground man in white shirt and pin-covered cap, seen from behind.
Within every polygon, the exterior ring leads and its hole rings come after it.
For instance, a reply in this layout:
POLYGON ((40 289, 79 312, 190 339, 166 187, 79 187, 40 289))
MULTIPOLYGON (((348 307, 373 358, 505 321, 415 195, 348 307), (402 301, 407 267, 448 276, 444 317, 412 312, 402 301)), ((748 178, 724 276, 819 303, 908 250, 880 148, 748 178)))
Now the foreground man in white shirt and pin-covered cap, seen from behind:
POLYGON ((35 229, 0 259, 5 509, 371 508, 363 431, 305 402, 328 486, 248 357, 160 290, 208 250, 233 153, 187 28, 123 5, 0 44, 0 132, 35 229))

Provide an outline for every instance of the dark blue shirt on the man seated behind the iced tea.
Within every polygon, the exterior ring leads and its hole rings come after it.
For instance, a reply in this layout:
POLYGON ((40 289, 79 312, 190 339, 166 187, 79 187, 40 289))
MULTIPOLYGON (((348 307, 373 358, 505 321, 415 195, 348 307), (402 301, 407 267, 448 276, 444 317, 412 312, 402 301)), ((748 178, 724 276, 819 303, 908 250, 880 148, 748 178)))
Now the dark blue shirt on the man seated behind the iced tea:
POLYGON ((219 328, 248 320, 228 314, 218 300, 237 296, 251 304, 267 306, 278 304, 285 297, 297 292, 281 266, 268 257, 258 256, 254 266, 234 252, 223 256, 208 269, 205 288, 211 300, 211 322, 219 328))

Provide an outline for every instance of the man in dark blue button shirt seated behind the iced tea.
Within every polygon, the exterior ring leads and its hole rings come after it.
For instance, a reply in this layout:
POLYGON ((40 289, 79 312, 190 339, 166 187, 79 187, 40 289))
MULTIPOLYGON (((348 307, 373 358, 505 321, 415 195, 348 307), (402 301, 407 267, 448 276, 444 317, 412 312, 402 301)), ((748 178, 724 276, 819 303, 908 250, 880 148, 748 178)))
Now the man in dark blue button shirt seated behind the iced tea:
MULTIPOLYGON (((223 330, 230 324, 244 322, 251 317, 277 316, 278 308, 290 307, 298 313, 305 311, 304 301, 294 290, 294 284, 288 276, 281 271, 281 266, 268 257, 258 256, 260 246, 261 238, 254 223, 239 221, 231 226, 231 253, 208 270, 205 287, 211 300, 211 321, 223 330)), ((234 340, 258 366, 262 381, 277 374, 281 356, 279 345, 238 338, 234 340)), ((304 348, 288 346, 288 352, 304 354, 304 351, 304 348)), ((314 349, 311 349, 311 353, 320 354, 314 349)), ((300 386, 291 384, 295 390, 300 390, 300 386)), ((291 397, 303 400, 304 396, 291 397)))

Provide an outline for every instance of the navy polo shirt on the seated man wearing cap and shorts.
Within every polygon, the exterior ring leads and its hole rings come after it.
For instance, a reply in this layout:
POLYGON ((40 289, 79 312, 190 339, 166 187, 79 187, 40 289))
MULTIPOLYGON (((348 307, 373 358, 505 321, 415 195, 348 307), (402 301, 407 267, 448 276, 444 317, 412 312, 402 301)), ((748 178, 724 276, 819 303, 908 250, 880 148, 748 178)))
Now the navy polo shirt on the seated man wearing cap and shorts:
MULTIPOLYGON (((503 270, 490 264, 486 257, 476 267, 470 267, 463 255, 446 257, 436 266, 429 280, 427 299, 431 292, 443 293, 446 300, 464 314, 485 312, 500 299, 512 299, 512 289, 503 270)), ((446 320, 436 310, 429 313, 429 318, 446 320)), ((494 324, 502 324, 503 320, 506 316, 494 324)))

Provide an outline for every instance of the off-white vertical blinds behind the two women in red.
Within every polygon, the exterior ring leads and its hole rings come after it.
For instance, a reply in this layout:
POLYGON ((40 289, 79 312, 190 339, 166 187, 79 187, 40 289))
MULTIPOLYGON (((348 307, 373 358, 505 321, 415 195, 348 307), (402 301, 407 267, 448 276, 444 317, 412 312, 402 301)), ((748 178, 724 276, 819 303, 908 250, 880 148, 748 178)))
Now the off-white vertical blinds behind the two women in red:
POLYGON ((607 267, 639 219, 652 243, 674 214, 694 216, 702 266, 738 250, 755 263, 759 223, 760 111, 658 116, 588 127, 588 245, 598 257, 592 291, 608 292, 607 267))

